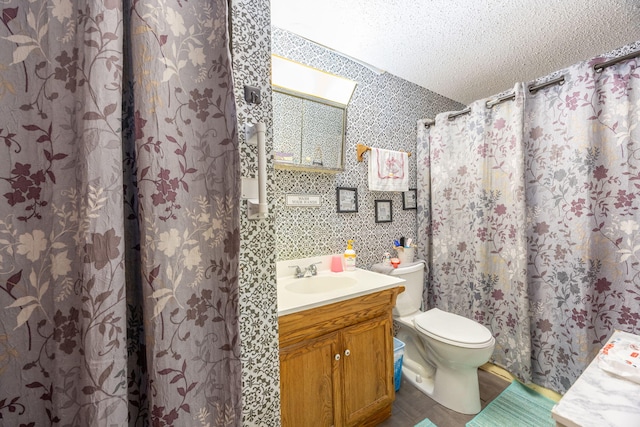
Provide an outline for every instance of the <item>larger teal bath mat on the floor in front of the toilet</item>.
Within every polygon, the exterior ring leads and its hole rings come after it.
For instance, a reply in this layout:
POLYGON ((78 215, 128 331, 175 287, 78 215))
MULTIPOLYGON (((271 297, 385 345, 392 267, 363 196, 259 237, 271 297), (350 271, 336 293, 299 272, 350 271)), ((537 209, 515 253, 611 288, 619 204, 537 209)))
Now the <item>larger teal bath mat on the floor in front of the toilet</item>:
POLYGON ((556 403, 540 393, 513 381, 492 400, 467 427, 555 427, 551 408, 556 403))

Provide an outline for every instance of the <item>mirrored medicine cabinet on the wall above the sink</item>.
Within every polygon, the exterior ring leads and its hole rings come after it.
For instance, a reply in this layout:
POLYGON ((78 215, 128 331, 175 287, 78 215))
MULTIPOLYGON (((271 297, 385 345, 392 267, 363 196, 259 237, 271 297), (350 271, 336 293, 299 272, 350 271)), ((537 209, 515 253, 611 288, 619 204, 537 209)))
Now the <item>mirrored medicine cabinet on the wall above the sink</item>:
POLYGON ((343 171, 345 123, 344 105, 274 87, 275 167, 343 171))

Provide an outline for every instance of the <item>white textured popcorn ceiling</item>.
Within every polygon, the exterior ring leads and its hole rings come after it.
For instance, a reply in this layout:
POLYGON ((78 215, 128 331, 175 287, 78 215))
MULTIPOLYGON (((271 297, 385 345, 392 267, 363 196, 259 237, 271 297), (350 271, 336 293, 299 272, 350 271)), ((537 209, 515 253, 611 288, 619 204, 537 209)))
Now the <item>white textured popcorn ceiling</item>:
POLYGON ((640 0, 271 0, 276 27, 468 104, 640 40, 640 0))

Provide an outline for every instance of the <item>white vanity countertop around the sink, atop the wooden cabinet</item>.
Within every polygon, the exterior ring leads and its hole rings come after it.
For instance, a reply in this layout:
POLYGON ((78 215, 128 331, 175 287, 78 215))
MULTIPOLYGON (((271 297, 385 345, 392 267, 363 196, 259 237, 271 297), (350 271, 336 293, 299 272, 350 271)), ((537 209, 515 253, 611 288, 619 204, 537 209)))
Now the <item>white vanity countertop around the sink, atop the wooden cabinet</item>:
POLYGON ((390 289, 404 283, 404 279, 397 276, 375 273, 361 268, 356 268, 355 271, 333 273, 330 270, 330 260, 331 256, 329 255, 328 257, 304 258, 277 263, 279 316, 345 301, 358 296, 390 289), (307 278, 295 278, 292 274, 293 269, 290 269, 289 266, 299 265, 304 270, 305 267, 315 262, 320 263, 318 264, 318 275, 316 277, 328 277, 330 280, 334 278, 337 280, 345 279, 347 281, 353 279, 355 283, 348 287, 327 290, 326 292, 300 293, 290 291, 288 289, 290 287, 289 285, 293 283, 305 284, 312 282, 304 282, 307 278))

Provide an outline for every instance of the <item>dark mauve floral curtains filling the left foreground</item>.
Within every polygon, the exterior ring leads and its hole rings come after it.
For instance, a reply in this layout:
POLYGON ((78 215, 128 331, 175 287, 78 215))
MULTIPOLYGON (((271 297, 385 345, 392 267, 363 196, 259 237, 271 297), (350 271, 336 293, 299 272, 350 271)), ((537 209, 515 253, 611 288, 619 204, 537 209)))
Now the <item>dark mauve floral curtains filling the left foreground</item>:
POLYGON ((240 425, 227 19, 0 5, 0 424, 240 425))

